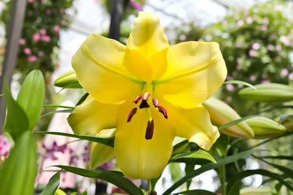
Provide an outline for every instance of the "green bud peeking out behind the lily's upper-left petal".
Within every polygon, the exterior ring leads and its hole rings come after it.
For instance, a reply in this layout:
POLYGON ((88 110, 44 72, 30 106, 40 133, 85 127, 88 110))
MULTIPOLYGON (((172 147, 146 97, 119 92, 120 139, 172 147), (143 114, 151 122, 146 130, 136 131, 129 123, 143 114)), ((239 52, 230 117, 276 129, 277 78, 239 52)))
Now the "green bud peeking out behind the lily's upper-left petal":
MULTIPOLYGON (((76 73, 73 69, 68 70, 67 72, 60 75, 55 81, 54 85, 57 87, 65 87, 70 83, 77 81, 76 73)), ((76 84, 68 86, 68 88, 82 88, 82 86, 77 82, 76 84)))

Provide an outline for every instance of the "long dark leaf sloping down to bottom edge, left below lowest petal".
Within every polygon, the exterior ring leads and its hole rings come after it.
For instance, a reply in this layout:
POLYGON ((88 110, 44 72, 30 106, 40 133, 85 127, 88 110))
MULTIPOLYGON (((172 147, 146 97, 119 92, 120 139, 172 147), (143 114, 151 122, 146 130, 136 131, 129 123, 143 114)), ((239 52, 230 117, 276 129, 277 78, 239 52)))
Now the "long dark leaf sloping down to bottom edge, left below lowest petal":
POLYGON ((102 179, 104 181, 112 183, 118 188, 121 188, 129 195, 144 195, 143 192, 138 187, 136 187, 130 180, 126 179, 124 176, 120 176, 110 171, 93 171, 63 165, 57 165, 55 167, 59 167, 80 176, 102 179))

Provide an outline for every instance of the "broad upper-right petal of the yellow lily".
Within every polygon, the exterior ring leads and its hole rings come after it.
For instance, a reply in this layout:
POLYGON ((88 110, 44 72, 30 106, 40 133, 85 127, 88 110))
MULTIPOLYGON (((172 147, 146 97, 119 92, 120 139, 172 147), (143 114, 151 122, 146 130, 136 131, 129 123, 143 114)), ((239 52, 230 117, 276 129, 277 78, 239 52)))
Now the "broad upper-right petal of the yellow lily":
POLYGON ((192 108, 206 101, 226 76, 218 43, 190 41, 169 47, 166 73, 153 83, 169 102, 192 108))

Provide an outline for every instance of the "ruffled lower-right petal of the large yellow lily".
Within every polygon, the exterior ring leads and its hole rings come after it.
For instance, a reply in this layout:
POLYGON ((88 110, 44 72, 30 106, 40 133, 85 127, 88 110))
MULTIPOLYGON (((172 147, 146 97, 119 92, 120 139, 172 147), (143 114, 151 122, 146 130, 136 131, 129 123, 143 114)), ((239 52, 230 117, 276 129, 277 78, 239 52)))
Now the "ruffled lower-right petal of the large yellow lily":
POLYGON ((209 112, 202 105, 191 109, 177 107, 174 115, 177 118, 176 135, 197 143, 205 150, 209 150, 220 136, 218 128, 210 122, 209 112))

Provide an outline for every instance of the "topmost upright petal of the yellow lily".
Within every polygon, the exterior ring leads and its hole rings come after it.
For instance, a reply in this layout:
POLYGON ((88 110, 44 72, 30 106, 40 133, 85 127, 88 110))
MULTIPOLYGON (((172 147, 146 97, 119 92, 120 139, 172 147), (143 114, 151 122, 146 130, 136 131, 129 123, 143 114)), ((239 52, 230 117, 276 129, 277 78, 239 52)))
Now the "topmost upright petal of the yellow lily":
POLYGON ((146 59, 169 47, 159 17, 152 12, 139 12, 126 47, 139 51, 146 59))

